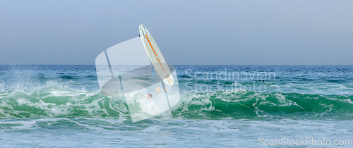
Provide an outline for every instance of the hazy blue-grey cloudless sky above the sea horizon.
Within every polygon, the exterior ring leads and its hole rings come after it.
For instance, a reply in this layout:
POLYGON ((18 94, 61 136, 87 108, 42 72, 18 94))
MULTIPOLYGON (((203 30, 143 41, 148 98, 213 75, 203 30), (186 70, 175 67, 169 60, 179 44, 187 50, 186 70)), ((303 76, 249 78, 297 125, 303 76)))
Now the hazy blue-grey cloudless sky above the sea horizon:
POLYGON ((353 1, 0 1, 0 65, 94 65, 145 25, 174 65, 353 65, 353 1))

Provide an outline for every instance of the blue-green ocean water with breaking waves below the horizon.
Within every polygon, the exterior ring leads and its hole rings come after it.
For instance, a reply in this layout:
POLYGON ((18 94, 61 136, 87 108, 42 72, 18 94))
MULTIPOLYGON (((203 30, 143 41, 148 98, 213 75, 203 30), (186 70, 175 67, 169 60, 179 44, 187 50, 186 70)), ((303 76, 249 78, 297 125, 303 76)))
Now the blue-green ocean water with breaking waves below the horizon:
POLYGON ((0 66, 1 147, 353 147, 353 66, 175 66, 171 113, 132 122, 95 66, 0 66))

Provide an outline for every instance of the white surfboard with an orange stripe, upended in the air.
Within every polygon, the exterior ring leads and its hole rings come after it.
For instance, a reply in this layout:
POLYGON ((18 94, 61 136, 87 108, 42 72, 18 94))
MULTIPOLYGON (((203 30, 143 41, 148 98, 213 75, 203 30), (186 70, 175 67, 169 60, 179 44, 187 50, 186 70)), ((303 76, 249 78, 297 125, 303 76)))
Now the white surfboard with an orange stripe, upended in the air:
POLYGON ((158 48, 155 39, 153 39, 152 35, 144 25, 139 26, 140 29, 140 38, 143 42, 143 47, 145 47, 145 51, 150 58, 152 66, 155 68, 155 71, 160 75, 160 78, 167 85, 174 84, 174 78, 169 69, 167 62, 165 61, 160 48, 158 48))

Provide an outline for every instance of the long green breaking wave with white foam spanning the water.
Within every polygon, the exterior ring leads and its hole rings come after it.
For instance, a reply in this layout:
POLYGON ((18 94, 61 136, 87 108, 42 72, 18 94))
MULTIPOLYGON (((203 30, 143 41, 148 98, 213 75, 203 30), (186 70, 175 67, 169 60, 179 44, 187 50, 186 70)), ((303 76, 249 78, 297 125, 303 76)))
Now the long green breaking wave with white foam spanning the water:
MULTIPOLYGON (((124 97, 47 84, 0 92, 0 118, 130 118, 124 97)), ((352 118, 353 96, 228 90, 181 92, 173 118, 352 118)), ((156 117, 159 118, 159 117, 156 117)))

